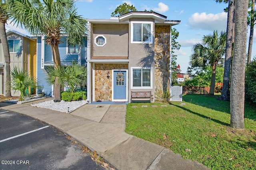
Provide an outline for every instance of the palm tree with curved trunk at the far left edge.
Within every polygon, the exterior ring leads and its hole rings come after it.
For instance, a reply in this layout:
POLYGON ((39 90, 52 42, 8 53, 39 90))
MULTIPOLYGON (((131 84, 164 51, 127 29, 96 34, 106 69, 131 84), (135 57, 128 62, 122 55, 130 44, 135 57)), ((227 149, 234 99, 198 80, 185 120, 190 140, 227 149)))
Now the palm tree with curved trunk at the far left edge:
POLYGON ((0 39, 4 52, 4 70, 5 70, 5 96, 11 96, 11 77, 10 77, 10 53, 8 40, 6 37, 5 24, 9 18, 8 4, 4 0, 0 2, 0 39))

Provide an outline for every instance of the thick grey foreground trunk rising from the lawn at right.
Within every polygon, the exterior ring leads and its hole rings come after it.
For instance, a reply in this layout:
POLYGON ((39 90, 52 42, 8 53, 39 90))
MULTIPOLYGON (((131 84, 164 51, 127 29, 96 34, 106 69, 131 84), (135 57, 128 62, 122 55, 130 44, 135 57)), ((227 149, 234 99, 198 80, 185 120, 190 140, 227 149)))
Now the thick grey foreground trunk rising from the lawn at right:
POLYGON ((244 129, 244 78, 248 0, 236 0, 235 41, 230 86, 230 126, 244 129))

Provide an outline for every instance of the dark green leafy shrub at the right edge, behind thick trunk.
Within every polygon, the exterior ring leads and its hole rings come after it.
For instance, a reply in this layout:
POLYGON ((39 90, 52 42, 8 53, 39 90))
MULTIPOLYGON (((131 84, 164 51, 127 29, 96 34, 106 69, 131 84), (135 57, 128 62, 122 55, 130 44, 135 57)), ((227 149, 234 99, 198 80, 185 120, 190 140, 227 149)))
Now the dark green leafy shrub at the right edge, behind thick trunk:
POLYGON ((245 72, 245 97, 256 104, 256 59, 246 68, 245 72))

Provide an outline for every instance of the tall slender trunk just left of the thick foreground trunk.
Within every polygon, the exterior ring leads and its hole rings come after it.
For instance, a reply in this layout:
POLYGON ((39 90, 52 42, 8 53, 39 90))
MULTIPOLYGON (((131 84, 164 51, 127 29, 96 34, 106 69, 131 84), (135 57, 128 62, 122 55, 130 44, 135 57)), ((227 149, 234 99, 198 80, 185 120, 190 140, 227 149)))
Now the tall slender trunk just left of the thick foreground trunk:
POLYGON ((221 90, 221 96, 219 100, 228 101, 229 96, 229 80, 230 80, 230 67, 231 67, 231 57, 232 57, 232 43, 233 33, 234 33, 234 14, 235 14, 235 0, 228 0, 228 22, 227 22, 227 38, 226 38, 226 55, 224 64, 224 76, 223 76, 223 86, 221 90))

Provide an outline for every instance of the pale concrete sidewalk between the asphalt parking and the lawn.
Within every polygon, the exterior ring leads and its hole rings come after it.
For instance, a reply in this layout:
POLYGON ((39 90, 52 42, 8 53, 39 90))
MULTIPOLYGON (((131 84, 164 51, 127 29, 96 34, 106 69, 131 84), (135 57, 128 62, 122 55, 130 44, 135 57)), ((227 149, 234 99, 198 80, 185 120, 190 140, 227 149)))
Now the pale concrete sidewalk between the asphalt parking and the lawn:
MULTIPOLYGON (((42 100, 33 103, 37 102, 42 100)), ((90 150, 96 150, 119 170, 209 170, 169 149, 125 133, 126 105, 86 104, 67 114, 30 104, 0 102, 0 107, 57 127, 90 150)))

